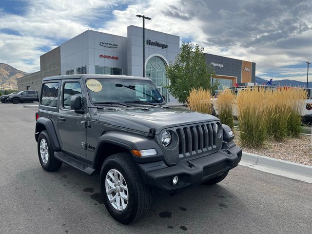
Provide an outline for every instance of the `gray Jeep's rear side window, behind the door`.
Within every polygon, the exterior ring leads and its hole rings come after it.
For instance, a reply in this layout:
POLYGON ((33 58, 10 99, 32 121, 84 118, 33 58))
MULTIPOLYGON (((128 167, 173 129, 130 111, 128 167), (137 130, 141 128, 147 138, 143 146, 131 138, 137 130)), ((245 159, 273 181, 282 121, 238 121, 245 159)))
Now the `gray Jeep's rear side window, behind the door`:
POLYGON ((59 83, 45 83, 41 91, 41 105, 56 107, 58 104, 59 83))

